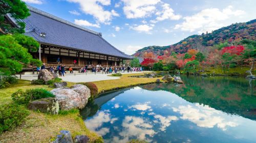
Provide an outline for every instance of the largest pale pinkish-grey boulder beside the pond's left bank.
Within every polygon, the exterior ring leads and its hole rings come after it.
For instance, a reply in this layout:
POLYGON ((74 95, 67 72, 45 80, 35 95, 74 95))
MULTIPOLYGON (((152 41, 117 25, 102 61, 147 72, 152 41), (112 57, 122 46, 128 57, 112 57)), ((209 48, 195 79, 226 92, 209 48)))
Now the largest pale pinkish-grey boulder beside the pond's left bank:
POLYGON ((82 109, 91 97, 90 89, 81 84, 76 84, 71 88, 55 88, 51 90, 51 93, 58 99, 61 110, 82 109))

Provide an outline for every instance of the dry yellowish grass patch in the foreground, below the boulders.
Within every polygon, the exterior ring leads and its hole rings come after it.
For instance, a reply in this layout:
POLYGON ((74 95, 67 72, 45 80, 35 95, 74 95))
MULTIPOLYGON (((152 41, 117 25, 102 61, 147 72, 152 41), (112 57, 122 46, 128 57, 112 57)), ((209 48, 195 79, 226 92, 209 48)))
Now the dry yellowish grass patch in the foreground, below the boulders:
POLYGON ((0 142, 50 142, 60 130, 70 131, 73 138, 76 135, 87 135, 92 142, 99 138, 86 128, 78 110, 63 115, 30 112, 23 125, 0 134, 0 142))

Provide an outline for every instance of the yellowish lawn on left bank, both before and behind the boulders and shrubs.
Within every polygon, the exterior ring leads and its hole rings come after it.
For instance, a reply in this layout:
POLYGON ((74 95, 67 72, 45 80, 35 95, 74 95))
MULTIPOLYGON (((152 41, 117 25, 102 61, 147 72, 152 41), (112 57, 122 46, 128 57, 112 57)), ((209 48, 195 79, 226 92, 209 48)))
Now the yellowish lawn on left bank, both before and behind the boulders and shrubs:
MULTIPOLYGON (((10 87, 0 89, 0 105, 11 104, 11 94, 18 89, 44 88, 51 90, 48 85, 31 85, 31 81, 19 80, 10 87)), ((68 86, 75 83, 68 82, 68 86)), ((88 135, 94 141, 100 137, 89 131, 83 123, 78 110, 60 112, 59 115, 50 115, 30 111, 26 121, 13 131, 0 134, 0 142, 49 142, 54 139, 60 130, 69 130, 72 136, 88 135)))

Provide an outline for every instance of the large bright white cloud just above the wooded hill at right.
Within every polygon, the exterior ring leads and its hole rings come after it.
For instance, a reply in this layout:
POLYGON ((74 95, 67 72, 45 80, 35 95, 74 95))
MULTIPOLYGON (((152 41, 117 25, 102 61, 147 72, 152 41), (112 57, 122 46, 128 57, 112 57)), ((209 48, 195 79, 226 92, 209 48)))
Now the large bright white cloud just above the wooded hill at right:
POLYGON ((184 22, 176 25, 174 29, 181 29, 182 31, 198 31, 198 33, 211 32, 212 30, 230 25, 233 19, 245 14, 242 10, 233 10, 232 6, 228 6, 223 10, 217 8, 204 9, 199 13, 186 16, 184 22))

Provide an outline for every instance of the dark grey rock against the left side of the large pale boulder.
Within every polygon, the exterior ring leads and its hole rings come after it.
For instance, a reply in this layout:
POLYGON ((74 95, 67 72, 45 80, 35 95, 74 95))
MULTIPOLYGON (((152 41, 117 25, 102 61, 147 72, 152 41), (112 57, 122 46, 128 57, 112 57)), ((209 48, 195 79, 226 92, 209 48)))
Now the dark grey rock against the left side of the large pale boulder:
POLYGON ((30 102, 28 108, 35 111, 39 110, 44 113, 58 114, 59 103, 56 98, 45 98, 30 102))

